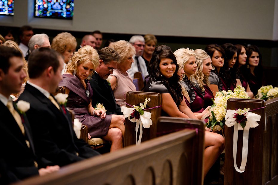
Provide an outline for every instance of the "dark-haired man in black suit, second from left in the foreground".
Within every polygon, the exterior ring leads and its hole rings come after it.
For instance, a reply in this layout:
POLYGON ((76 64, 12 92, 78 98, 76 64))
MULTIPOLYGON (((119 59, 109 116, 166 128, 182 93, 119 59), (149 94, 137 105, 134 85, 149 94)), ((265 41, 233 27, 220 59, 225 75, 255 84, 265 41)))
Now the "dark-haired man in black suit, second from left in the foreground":
POLYGON ((62 79, 62 56, 50 48, 39 48, 29 56, 30 80, 19 100, 30 103, 26 112, 37 155, 64 166, 99 155, 82 139, 77 139, 71 117, 51 92, 62 79))

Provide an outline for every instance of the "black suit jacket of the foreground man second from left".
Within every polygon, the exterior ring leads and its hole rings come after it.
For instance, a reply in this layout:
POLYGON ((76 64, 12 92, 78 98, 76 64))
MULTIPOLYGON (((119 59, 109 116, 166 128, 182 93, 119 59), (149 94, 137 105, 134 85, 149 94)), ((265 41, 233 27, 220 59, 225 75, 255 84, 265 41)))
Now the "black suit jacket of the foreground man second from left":
POLYGON ((28 83, 19 100, 30 103, 26 115, 38 156, 64 166, 99 155, 84 140, 77 139, 66 108, 65 114, 62 107, 59 110, 44 94, 28 83))

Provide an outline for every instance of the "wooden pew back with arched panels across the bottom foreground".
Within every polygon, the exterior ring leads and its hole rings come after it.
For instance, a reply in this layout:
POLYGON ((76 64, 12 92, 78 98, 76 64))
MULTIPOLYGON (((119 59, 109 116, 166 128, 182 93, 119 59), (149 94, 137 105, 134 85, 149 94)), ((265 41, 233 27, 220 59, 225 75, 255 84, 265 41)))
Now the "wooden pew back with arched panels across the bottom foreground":
POLYGON ((33 177, 17 185, 199 185, 202 182, 195 176, 201 176, 202 169, 196 168, 200 160, 194 157, 195 149, 204 147, 204 138, 200 140, 199 136, 195 130, 181 130, 140 146, 129 146, 62 167, 58 172, 33 177))

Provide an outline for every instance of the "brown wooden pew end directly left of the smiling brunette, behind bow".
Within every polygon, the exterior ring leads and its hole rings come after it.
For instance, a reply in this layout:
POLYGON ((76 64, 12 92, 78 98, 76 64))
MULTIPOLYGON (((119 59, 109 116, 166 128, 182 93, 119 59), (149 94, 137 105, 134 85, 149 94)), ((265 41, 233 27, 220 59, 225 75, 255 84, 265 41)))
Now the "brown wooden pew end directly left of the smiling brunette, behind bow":
MULTIPOLYGON (((161 105, 161 94, 152 93, 152 92, 140 92, 140 91, 129 91, 126 94, 126 103, 129 105, 137 105, 139 103, 144 103, 145 98, 150 98, 151 101, 147 104, 149 108, 160 106, 161 105)), ((126 107, 129 107, 126 105, 126 107)), ((161 115, 161 107, 146 110, 152 113, 152 126, 149 129, 143 128, 142 140, 150 140, 156 137, 156 122, 157 118, 161 115)), ((124 146, 129 146, 136 144, 136 135, 135 135, 135 125, 136 123, 131 122, 126 118, 125 121, 125 136, 124 136, 124 146)))

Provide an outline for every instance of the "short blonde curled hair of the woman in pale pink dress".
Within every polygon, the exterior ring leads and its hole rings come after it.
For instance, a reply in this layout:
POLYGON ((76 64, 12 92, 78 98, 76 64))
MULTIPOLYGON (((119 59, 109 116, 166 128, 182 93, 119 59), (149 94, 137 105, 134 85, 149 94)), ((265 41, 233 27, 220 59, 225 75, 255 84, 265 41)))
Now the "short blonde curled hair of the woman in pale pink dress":
POLYGON ((123 63, 129 56, 135 55, 135 47, 125 40, 119 40, 117 42, 111 43, 111 48, 119 53, 119 64, 123 63))

